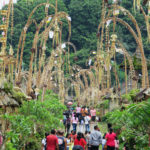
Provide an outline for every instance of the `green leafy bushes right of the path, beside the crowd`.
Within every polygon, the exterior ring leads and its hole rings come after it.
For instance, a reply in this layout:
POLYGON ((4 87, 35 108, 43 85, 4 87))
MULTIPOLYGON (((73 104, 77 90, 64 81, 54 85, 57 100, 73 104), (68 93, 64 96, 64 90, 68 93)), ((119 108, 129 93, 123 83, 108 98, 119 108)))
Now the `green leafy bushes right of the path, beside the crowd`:
POLYGON ((148 150, 150 133, 150 100, 131 104, 125 110, 108 113, 107 121, 119 134, 120 149, 128 143, 129 149, 148 150), (125 141, 122 139, 125 138, 125 141))

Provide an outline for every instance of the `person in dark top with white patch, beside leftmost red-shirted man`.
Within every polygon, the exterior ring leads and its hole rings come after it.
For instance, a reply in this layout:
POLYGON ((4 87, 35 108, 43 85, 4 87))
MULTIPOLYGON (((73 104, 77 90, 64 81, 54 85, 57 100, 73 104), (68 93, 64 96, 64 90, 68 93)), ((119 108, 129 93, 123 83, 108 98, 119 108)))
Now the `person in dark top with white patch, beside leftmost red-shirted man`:
POLYGON ((57 138, 59 150, 67 150, 67 140, 64 137, 64 132, 59 130, 57 138))

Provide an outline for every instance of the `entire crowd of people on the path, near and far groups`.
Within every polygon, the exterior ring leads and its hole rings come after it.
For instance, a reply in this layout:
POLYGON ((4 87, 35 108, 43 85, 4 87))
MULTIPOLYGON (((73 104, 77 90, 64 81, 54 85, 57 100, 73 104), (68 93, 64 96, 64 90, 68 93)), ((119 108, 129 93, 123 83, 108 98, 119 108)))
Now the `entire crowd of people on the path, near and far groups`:
POLYGON ((94 108, 80 107, 73 110, 69 108, 64 112, 63 130, 51 130, 51 134, 45 134, 42 140, 42 150, 118 150, 119 141, 111 126, 109 132, 102 136, 99 127, 93 123, 94 128, 90 131, 91 122, 96 121, 94 108), (72 125, 72 129, 71 129, 72 125), (77 132, 77 126, 78 132, 77 132))

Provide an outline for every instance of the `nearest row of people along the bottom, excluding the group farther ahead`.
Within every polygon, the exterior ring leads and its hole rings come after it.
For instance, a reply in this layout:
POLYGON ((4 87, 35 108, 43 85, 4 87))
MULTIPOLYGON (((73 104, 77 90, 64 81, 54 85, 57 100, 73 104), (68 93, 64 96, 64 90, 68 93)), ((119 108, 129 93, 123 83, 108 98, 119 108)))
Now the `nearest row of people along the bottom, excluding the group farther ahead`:
POLYGON ((51 134, 45 134, 42 140, 42 150, 99 150, 102 145, 102 150, 118 150, 119 142, 113 129, 102 137, 102 133, 97 125, 94 126, 92 132, 85 131, 67 133, 64 136, 62 130, 51 130, 51 134))

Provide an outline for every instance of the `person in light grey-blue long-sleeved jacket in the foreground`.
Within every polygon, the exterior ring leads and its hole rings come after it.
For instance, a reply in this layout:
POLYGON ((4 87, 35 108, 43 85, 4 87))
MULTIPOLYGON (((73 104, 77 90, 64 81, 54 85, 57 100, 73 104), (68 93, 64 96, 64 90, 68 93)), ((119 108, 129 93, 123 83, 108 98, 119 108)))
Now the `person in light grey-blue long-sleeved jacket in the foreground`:
POLYGON ((89 144, 91 145, 91 150, 98 150, 99 145, 102 144, 102 134, 97 125, 94 126, 94 131, 90 135, 89 144))

